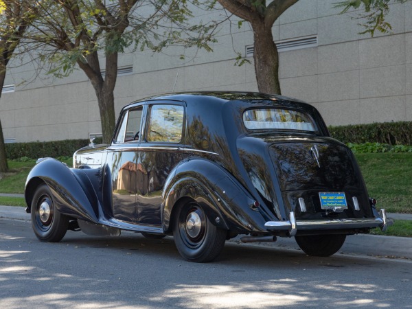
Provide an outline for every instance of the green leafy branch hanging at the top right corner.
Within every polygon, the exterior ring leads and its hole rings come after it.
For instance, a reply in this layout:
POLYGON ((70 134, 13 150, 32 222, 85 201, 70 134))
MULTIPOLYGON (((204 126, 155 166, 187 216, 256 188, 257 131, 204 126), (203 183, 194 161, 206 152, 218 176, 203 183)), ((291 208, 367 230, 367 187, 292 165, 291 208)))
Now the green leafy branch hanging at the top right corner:
POLYGON ((404 3, 407 0, 346 0, 334 3, 334 8, 341 10, 340 14, 346 14, 352 10, 363 8, 364 13, 357 13, 356 19, 362 19, 363 22, 358 23, 365 28, 365 31, 359 34, 370 34, 374 36, 375 31, 381 33, 391 32, 392 26, 385 21, 385 17, 389 13, 390 3, 404 3))

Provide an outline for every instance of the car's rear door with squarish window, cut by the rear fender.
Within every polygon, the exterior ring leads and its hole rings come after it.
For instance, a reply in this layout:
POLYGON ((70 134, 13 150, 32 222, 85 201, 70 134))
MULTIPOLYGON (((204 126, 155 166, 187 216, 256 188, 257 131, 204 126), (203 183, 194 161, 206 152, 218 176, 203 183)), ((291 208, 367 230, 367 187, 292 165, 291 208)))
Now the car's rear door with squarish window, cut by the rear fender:
POLYGON ((148 104, 137 163, 137 203, 142 225, 161 225, 161 194, 170 172, 183 159, 184 124, 183 102, 148 104))

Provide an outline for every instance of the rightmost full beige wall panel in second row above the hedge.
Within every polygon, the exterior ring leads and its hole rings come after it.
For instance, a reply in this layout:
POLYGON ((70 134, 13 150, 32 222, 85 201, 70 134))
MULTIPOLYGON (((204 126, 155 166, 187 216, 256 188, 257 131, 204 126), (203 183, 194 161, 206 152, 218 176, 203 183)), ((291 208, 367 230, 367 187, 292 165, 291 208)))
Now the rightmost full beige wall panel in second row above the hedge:
POLYGON ((361 70, 361 98, 404 95, 405 71, 404 65, 361 70))

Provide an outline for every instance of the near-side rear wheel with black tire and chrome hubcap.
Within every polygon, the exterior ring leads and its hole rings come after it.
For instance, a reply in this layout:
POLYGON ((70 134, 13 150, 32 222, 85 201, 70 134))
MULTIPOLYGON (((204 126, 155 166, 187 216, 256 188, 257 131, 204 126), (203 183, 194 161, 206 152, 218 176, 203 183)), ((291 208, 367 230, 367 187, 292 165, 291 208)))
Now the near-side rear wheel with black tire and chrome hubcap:
POLYGON ((196 203, 187 203, 177 210, 173 238, 183 258, 199 263, 217 258, 225 245, 227 231, 212 225, 196 203))

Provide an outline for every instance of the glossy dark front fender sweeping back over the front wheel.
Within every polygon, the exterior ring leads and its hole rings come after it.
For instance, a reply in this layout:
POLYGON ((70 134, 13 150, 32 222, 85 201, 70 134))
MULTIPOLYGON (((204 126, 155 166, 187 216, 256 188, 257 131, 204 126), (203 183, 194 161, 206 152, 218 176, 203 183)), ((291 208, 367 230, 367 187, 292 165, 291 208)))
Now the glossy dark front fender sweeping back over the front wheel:
POLYGON ((36 188, 45 183, 52 190, 54 203, 60 213, 97 223, 99 202, 89 174, 98 172, 92 169, 71 169, 56 159, 43 159, 27 176, 25 201, 29 211, 36 188))

